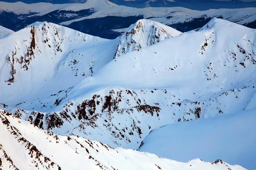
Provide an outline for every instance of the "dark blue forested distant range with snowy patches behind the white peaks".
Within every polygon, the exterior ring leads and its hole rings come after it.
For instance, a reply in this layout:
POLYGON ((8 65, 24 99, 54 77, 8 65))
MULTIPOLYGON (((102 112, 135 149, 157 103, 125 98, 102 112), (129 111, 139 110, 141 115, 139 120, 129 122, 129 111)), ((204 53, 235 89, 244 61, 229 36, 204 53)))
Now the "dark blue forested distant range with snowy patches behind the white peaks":
POLYGON ((212 17, 256 28, 256 8, 196 11, 182 7, 132 8, 108 0, 86 3, 4 3, 0 2, 0 25, 14 31, 36 21, 49 21, 86 34, 114 39, 139 19, 150 19, 181 32, 201 28, 212 17))

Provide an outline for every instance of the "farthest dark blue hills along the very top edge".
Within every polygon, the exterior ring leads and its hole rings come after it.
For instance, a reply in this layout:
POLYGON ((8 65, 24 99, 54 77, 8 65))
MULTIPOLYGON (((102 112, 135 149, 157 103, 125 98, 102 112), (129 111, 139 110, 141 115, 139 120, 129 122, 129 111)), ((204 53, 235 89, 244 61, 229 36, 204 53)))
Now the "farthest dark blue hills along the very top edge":
MULTIPOLYGON (((87 0, 3 0, 3 2, 23 3, 85 3, 87 0)), ((208 10, 214 8, 248 8, 256 7, 256 0, 110 0, 122 6, 135 8, 145 7, 184 7, 193 10, 208 10)))

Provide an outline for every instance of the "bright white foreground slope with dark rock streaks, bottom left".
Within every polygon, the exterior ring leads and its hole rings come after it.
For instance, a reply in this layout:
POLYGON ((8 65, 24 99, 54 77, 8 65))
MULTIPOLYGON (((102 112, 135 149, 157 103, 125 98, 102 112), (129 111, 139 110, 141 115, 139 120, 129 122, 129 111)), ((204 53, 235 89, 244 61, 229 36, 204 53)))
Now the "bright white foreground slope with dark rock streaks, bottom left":
POLYGON ((79 136, 60 136, 0 110, 0 169, 3 170, 245 170, 224 161, 187 163, 79 136))

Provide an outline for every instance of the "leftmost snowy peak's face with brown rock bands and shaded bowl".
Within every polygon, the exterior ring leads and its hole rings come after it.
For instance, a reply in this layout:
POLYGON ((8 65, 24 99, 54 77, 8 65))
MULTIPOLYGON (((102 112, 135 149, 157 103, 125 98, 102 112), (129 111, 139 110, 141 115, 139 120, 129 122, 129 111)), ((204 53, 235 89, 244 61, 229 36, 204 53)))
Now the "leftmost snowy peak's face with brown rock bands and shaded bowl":
POLYGON ((67 91, 111 61, 117 43, 48 22, 34 23, 0 39, 0 86, 5 89, 0 98, 17 104, 67 91))

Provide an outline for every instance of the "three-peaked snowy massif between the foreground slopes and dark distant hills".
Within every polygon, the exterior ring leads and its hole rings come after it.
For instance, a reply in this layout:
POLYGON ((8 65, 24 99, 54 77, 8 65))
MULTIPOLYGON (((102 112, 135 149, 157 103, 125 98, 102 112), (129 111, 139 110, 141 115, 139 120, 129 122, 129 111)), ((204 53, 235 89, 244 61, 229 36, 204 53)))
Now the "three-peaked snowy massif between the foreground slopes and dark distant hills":
POLYGON ((58 135, 132 149, 163 125, 255 108, 255 29, 213 18, 180 34, 139 20, 126 33, 106 40, 44 22, 0 39, 0 108, 58 135), (132 40, 139 51, 113 59, 132 40))

